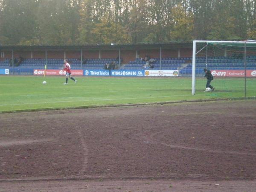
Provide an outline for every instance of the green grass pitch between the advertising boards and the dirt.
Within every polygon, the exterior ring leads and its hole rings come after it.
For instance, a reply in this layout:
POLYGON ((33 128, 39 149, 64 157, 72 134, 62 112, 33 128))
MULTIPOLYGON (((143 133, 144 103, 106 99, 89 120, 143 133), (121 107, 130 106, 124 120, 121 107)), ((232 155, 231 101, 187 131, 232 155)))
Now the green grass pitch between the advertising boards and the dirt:
MULTIPOLYGON (((243 78, 216 78, 214 92, 198 78, 194 96, 191 78, 75 78, 63 85, 64 76, 0 76, 0 112, 244 97, 243 78)), ((247 79, 247 96, 256 96, 256 78, 247 79)))

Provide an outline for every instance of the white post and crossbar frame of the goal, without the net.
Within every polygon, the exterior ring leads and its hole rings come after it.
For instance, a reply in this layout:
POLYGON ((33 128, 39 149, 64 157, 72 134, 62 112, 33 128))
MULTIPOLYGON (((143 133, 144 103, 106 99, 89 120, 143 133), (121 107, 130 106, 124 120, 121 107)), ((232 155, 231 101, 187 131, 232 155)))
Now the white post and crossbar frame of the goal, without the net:
MULTIPOLYGON (((196 55, 201 52, 203 49, 206 49, 208 44, 222 44, 230 47, 239 47, 239 49, 244 49, 244 70, 246 70, 246 47, 250 47, 253 44, 253 47, 256 47, 256 41, 245 40, 245 41, 193 41, 192 49, 192 95, 195 95, 195 75, 196 75, 196 55), (200 44, 201 46, 197 45, 200 44), (250 46, 248 46, 250 45, 250 46), (197 51, 198 49, 198 51, 197 51)), ((207 56, 206 56, 207 58, 207 56)), ((246 73, 244 73, 244 76, 246 73)), ((246 81, 246 80, 245 80, 246 81)), ((246 87, 246 86, 245 86, 246 87)))

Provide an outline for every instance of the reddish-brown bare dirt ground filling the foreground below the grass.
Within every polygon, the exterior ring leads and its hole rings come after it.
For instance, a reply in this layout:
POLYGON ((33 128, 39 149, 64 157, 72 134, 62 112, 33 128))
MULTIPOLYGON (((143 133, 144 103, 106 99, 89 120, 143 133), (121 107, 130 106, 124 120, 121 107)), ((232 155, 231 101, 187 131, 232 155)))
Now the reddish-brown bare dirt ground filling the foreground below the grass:
POLYGON ((256 100, 3 113, 0 191, 255 191, 255 141, 256 100))

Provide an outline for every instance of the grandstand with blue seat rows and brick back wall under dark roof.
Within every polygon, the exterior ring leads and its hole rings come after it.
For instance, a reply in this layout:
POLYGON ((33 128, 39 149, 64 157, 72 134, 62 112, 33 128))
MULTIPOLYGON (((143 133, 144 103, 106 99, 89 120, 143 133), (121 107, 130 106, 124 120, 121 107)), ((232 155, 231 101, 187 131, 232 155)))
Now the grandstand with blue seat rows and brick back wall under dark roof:
MULTIPOLYGON (((137 44, 137 45, 105 45, 105 46, 74 46, 74 47, 1 47, 6 55, 0 59, 0 68, 28 71, 28 69, 60 69, 63 58, 67 58, 73 69, 104 69, 105 64, 115 62, 116 69, 142 70, 146 61, 141 58, 150 55, 154 58, 154 70, 179 70, 180 76, 192 74, 192 42, 170 44, 137 44), (29 49, 29 50, 28 50, 29 49), (44 50, 47 50, 45 51, 44 50), (60 55, 63 55, 63 58, 60 55), (37 58, 33 58, 36 55, 37 58), (171 57, 170 57, 171 55, 171 57), (49 58, 47 58, 49 56, 49 58), (120 59, 119 59, 120 56, 120 59), (30 58, 29 58, 30 57, 30 58), (12 61, 16 58, 16 61, 12 61), (22 58, 17 64, 17 58, 22 58), (86 59, 84 59, 86 58, 86 59), (27 69, 27 70, 26 70, 27 69)), ((247 69, 256 68, 256 56, 246 58, 247 69)), ((197 57, 196 74, 204 74, 203 69, 242 70, 244 59, 230 55, 197 57)))

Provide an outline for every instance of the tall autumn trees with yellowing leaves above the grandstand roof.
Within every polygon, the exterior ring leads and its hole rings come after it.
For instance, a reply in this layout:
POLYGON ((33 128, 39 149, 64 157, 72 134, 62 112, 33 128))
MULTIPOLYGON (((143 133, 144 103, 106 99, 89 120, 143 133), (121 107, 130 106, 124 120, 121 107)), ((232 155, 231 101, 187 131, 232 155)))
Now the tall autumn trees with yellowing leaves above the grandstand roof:
POLYGON ((1 45, 256 39, 255 0, 0 0, 1 45))

